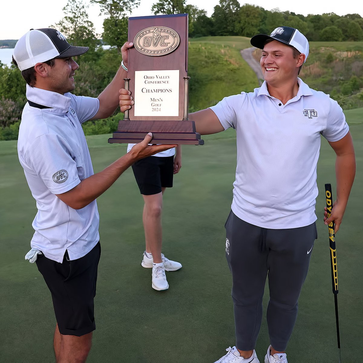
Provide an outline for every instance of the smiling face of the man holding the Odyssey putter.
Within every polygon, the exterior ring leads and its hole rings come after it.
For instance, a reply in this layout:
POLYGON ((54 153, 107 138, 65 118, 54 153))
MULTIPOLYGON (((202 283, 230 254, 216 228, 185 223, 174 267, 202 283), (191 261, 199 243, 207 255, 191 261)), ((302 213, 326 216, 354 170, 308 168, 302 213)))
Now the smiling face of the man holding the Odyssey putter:
POLYGON ((299 67, 305 56, 294 58, 293 48, 273 40, 262 50, 260 66, 265 81, 273 87, 281 87, 297 79, 299 67))

